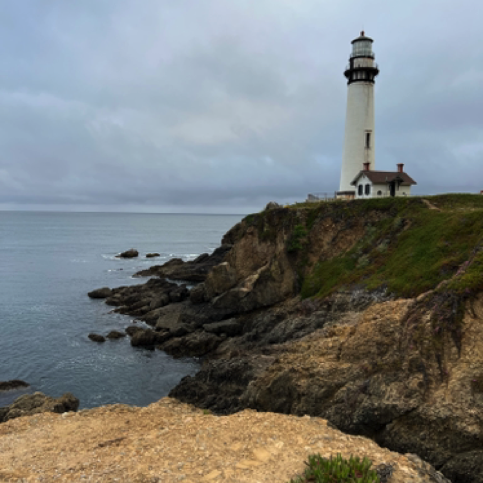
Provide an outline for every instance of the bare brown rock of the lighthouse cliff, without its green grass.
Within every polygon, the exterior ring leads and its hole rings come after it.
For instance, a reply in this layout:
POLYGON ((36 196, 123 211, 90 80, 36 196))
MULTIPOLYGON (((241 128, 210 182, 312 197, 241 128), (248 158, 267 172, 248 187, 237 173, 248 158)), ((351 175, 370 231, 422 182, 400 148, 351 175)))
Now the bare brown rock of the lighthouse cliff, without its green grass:
MULTIPOLYGON (((442 300, 442 284, 401 298, 384 286, 353 283, 302 300, 303 271, 315 260, 352 250, 394 217, 367 210, 356 218, 345 206, 315 220, 279 207, 247 217, 212 255, 140 272, 156 278, 106 292, 106 303, 149 326, 127 327, 133 346, 203 358, 170 397, 216 414, 249 408, 321 417, 391 450, 417 453, 453 483, 481 483, 483 286, 465 305, 465 331, 450 326, 443 336, 433 302, 442 300), (302 224, 310 225, 305 250, 302 224)), ((400 219, 376 247, 396 243, 411 226, 400 219)))

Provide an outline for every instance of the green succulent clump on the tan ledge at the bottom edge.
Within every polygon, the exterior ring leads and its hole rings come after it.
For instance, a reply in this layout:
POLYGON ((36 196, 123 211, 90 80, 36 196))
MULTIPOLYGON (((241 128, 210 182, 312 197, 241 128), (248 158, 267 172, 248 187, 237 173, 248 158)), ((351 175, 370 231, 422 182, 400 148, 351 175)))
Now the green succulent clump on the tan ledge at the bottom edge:
POLYGON ((380 483, 376 471, 370 469, 372 462, 366 457, 350 455, 347 460, 337 454, 327 459, 313 454, 305 465, 303 475, 291 479, 290 483, 380 483))

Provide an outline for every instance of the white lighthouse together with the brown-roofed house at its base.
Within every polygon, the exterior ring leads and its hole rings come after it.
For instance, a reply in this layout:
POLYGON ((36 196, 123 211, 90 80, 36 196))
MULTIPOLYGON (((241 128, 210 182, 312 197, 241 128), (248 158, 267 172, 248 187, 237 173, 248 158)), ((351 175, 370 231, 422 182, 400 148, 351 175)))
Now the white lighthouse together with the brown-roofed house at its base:
POLYGON ((379 66, 372 40, 361 35, 352 41, 352 53, 344 71, 347 78, 347 112, 340 187, 341 199, 408 196, 416 182, 398 164, 396 171, 376 171, 374 85, 379 66))

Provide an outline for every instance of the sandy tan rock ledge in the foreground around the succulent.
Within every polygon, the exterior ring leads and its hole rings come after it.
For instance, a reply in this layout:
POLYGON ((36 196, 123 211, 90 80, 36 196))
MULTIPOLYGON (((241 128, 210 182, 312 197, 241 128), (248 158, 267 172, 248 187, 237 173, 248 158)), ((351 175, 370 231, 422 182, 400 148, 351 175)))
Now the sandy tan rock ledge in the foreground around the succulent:
POLYGON ((4 423, 0 481, 287 483, 315 452, 390 465, 390 483, 448 483, 418 457, 347 436, 323 419, 249 410, 213 416, 170 398, 4 423))

